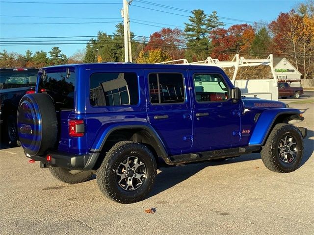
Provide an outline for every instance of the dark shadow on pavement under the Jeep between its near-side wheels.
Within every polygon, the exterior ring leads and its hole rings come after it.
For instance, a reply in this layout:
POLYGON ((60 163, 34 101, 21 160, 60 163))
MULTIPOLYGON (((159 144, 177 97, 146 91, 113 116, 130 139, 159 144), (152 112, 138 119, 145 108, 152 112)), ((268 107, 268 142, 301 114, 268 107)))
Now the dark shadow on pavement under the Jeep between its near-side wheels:
POLYGON ((259 153, 243 155, 241 157, 236 157, 233 159, 227 159, 222 162, 206 161, 193 164, 185 164, 173 167, 162 167, 159 170, 155 181, 155 186, 152 191, 149 193, 148 198, 157 195, 160 192, 163 192, 169 188, 172 188, 181 182, 187 180, 191 176, 200 172, 204 168, 212 165, 221 165, 221 164, 233 164, 244 161, 252 161, 260 159, 261 155, 259 153))

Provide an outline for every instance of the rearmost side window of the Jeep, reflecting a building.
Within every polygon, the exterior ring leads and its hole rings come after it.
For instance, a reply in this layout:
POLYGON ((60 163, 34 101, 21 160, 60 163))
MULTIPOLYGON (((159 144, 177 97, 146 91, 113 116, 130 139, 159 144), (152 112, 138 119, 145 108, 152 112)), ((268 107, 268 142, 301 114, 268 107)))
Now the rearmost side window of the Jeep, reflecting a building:
POLYGON ((98 72, 90 76, 92 106, 138 104, 137 75, 131 72, 98 72))

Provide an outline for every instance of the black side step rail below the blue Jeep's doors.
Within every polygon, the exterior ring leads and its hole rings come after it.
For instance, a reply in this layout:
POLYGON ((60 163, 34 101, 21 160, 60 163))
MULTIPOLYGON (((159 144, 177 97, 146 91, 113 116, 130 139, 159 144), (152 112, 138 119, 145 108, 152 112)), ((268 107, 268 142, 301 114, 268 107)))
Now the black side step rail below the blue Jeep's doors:
POLYGON ((206 160, 211 160, 211 159, 235 157, 235 156, 239 156, 243 154, 249 154, 253 152, 258 152, 260 151, 260 149, 261 149, 260 146, 247 146, 247 147, 239 147, 239 148, 212 150, 212 151, 201 152, 201 153, 188 153, 188 154, 169 156, 165 159, 165 161, 167 164, 171 164, 171 165, 200 162, 200 161, 206 161, 206 160))

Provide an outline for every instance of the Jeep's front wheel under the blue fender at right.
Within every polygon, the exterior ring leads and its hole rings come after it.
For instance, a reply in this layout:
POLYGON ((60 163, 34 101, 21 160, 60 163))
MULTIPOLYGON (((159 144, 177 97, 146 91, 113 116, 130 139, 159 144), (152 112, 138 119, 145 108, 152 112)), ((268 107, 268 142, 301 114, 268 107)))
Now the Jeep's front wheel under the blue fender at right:
POLYGON ((261 157, 271 171, 288 173, 300 167, 304 151, 302 134, 289 124, 277 124, 271 131, 261 157))

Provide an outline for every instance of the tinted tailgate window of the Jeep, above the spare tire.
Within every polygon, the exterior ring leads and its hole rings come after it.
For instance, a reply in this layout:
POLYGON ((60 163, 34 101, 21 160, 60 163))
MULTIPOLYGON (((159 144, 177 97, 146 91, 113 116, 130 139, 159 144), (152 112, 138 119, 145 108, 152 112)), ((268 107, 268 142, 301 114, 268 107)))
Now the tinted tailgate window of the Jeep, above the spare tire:
POLYGON ((74 109, 74 86, 74 72, 48 72, 41 75, 38 92, 49 94, 56 110, 74 109))

